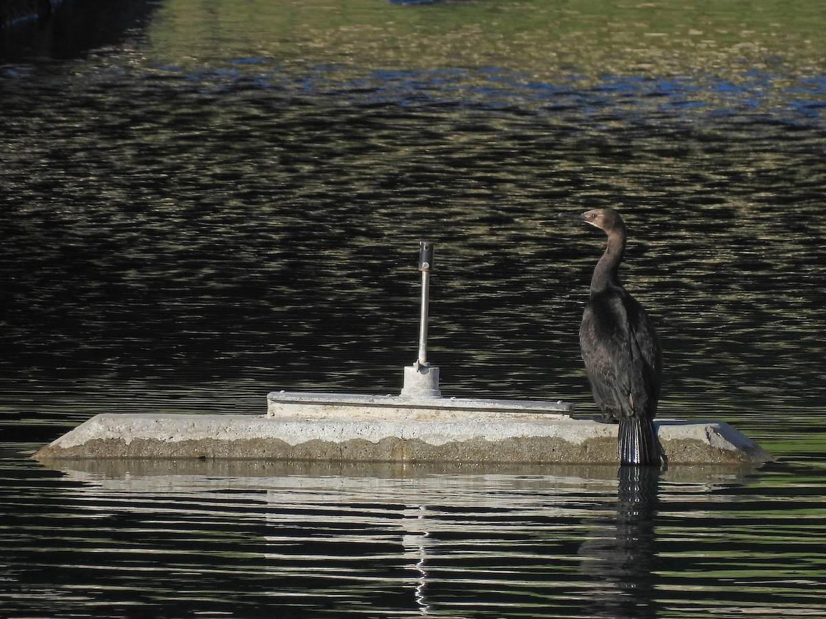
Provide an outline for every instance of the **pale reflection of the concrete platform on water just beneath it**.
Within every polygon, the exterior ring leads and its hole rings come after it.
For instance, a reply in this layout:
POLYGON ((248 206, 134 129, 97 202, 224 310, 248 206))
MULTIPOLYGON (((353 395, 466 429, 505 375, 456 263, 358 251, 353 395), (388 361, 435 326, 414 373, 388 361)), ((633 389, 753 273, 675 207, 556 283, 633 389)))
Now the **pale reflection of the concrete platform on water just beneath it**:
MULTIPOLYGON (((235 489, 250 491, 279 490, 283 493, 278 496, 279 503, 288 503, 291 496, 295 500, 301 491, 319 501, 346 492, 353 495, 348 499, 352 504, 368 504, 371 497, 376 501, 382 496, 395 505, 434 504, 449 497, 450 505, 478 503, 487 508, 513 509, 515 494, 519 494, 520 502, 536 499, 534 494, 525 492, 525 487, 534 484, 541 484, 546 492, 570 486, 572 499, 576 500, 582 499, 583 492, 615 493, 617 487, 616 464, 87 458, 46 461, 45 466, 63 472, 69 480, 87 482, 89 485, 80 487, 80 491, 191 491, 197 494, 229 484, 235 489), (507 499, 489 503, 493 491, 503 493, 507 499)), ((670 484, 672 492, 682 492, 680 486, 686 484, 692 493, 705 493, 718 488, 719 484, 743 484, 757 468, 754 464, 676 466, 662 471, 660 479, 670 484)), ((536 500, 544 508, 557 504, 536 500)), ((582 503, 577 505, 582 508, 582 503)))

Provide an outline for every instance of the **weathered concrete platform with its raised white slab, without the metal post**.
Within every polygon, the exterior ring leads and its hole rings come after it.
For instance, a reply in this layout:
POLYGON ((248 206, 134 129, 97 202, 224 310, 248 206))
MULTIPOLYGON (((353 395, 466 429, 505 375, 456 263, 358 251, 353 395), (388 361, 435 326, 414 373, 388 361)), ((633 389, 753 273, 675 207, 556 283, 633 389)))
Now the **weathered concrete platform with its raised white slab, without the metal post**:
MULTIPOLYGON (((569 404, 270 394, 266 417, 99 414, 38 451, 61 458, 615 463, 614 425, 569 404)), ((722 422, 658 424, 670 464, 771 461, 722 422)))

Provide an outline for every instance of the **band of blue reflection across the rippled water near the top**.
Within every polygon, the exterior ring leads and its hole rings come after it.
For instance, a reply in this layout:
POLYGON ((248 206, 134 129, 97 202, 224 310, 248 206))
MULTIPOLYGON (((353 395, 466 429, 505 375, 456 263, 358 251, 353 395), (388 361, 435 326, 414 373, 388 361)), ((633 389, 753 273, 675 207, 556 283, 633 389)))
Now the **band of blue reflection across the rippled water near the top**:
MULTIPOLYGON (((771 113, 775 120, 810 124, 822 120, 826 78, 793 80, 788 87, 778 86, 781 76, 749 70, 742 73, 743 83, 711 75, 686 76, 619 76, 605 75, 588 85, 582 76, 567 74, 556 83, 529 79, 523 73, 507 69, 377 69, 361 72, 330 65, 306 69, 302 75, 288 76, 282 68, 247 76, 244 65, 268 64, 268 59, 235 59, 239 69, 188 73, 188 78, 202 81, 207 92, 221 92, 230 79, 235 86, 273 87, 284 83, 305 94, 344 97, 364 105, 394 104, 468 106, 477 109, 515 109, 526 111, 565 110, 576 108, 593 114, 610 108, 612 114, 623 113, 624 102, 634 102, 639 111, 698 113, 713 116, 735 113, 771 113), (355 74, 354 74, 355 73, 355 74)), ((176 67, 163 67, 175 72, 176 67)), ((22 77, 22 76, 21 76, 22 77)))

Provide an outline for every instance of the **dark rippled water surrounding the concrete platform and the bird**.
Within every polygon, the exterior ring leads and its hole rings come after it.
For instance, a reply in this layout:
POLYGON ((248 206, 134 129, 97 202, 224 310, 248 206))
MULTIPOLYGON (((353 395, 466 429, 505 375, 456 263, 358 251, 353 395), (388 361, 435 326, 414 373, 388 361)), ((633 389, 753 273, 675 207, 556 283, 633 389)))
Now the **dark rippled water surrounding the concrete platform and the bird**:
POLYGON ((0 615, 824 614, 822 9, 141 6, 0 64, 0 615), (443 393, 590 413, 603 239, 556 214, 595 206, 629 225, 660 416, 780 467, 21 456, 103 411, 397 393, 423 238, 443 393))

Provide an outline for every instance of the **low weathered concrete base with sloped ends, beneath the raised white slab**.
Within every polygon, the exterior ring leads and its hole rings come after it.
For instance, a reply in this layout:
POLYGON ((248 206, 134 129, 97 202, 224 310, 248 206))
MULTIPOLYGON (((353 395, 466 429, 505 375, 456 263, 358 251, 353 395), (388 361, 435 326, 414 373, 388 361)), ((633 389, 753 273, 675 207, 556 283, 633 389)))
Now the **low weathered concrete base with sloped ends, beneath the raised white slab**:
MULTIPOLYGON (((657 428, 669 465, 774 461, 724 422, 661 421, 657 428)), ((469 424, 103 413, 34 457, 612 464, 616 427, 571 418, 469 424)))

